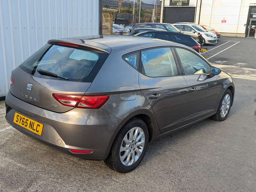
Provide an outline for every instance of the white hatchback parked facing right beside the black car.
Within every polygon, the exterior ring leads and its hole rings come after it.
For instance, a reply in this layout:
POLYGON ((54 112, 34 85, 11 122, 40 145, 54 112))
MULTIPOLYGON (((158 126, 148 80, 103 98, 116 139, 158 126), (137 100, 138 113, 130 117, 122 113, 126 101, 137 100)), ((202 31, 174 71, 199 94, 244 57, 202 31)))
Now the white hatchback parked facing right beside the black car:
POLYGON ((178 28, 180 31, 184 31, 191 34, 202 34, 202 37, 204 38, 203 45, 204 44, 214 44, 217 42, 217 36, 216 34, 206 31, 204 28, 202 28, 200 25, 196 23, 187 23, 187 22, 180 22, 180 23, 173 23, 172 25, 175 25, 176 28, 178 28))

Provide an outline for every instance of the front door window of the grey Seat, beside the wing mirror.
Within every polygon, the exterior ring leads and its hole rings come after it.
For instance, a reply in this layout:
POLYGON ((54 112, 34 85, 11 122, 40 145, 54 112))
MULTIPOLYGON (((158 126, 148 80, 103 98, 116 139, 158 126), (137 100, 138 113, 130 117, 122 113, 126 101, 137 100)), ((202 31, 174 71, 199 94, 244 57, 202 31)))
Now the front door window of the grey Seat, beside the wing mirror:
POLYGON ((182 48, 176 48, 186 75, 210 73, 210 65, 198 55, 182 48))

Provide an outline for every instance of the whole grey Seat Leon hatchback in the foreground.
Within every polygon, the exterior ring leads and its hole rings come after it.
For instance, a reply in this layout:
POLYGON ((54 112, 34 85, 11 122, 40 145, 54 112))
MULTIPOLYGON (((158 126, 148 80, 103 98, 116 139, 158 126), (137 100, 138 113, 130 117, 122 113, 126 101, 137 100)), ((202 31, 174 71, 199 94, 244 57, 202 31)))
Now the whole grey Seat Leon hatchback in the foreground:
POLYGON ((149 141, 225 120, 235 93, 231 76, 189 47, 131 36, 49 40, 10 82, 9 124, 121 173, 140 164, 149 141))

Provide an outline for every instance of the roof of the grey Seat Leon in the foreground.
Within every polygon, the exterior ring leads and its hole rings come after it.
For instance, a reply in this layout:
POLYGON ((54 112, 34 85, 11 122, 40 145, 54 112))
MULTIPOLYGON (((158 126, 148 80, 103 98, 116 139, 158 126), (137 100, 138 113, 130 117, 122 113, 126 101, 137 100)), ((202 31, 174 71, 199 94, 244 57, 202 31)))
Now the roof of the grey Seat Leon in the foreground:
POLYGON ((111 50, 113 49, 118 49, 120 52, 131 52, 158 46, 182 46, 175 42, 169 42, 165 40, 125 35, 90 35, 68 37, 48 41, 48 43, 54 44, 58 44, 58 42, 74 43, 108 54, 110 54, 111 50))

